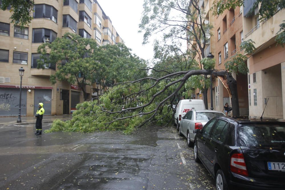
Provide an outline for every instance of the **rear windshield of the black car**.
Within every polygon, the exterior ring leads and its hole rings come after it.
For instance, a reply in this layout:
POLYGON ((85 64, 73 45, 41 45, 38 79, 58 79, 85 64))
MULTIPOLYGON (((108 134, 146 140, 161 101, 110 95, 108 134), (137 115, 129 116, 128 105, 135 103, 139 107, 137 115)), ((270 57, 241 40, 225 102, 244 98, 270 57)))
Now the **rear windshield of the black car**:
POLYGON ((239 142, 240 146, 285 147, 285 123, 240 125, 239 142))

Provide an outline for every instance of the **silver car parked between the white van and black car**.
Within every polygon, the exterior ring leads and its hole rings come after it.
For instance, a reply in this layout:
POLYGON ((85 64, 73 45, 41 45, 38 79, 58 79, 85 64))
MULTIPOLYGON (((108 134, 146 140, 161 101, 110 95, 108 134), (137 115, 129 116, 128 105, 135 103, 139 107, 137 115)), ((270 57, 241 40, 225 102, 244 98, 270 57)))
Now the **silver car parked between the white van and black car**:
POLYGON ((187 145, 192 146, 195 137, 194 129, 201 129, 213 117, 224 115, 215 110, 190 110, 180 121, 179 135, 184 135, 187 138, 187 145))

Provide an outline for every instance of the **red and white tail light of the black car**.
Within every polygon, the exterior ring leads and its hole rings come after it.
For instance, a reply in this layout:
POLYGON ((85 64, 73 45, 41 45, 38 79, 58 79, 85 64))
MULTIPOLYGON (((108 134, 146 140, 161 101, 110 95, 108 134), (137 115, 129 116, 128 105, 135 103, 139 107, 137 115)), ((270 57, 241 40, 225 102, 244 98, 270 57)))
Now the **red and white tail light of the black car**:
POLYGON ((240 175, 249 176, 243 153, 235 153, 231 156, 231 171, 240 175))

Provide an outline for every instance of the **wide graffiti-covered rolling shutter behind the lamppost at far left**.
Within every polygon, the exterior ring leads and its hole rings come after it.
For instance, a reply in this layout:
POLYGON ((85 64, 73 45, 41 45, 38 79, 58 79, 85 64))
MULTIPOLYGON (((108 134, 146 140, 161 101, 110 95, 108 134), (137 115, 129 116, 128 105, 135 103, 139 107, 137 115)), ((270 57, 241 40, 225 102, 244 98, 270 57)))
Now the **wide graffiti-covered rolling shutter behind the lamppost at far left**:
MULTIPOLYGON (((19 98, 19 88, 0 88, 0 116, 17 116, 19 98)), ((27 89, 22 88, 21 116, 23 115, 27 115, 27 89)))

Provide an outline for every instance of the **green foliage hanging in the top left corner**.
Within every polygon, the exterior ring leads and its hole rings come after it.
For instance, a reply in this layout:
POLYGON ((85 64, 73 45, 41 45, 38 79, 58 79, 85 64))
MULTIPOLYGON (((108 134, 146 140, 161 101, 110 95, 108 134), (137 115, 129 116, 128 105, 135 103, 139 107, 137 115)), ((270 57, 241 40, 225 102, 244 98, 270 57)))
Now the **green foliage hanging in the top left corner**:
POLYGON ((11 5, 10 12, 13 12, 10 17, 11 23, 20 26, 21 29, 32 21, 31 11, 34 8, 34 0, 2 0, 0 9, 5 11, 11 5))

